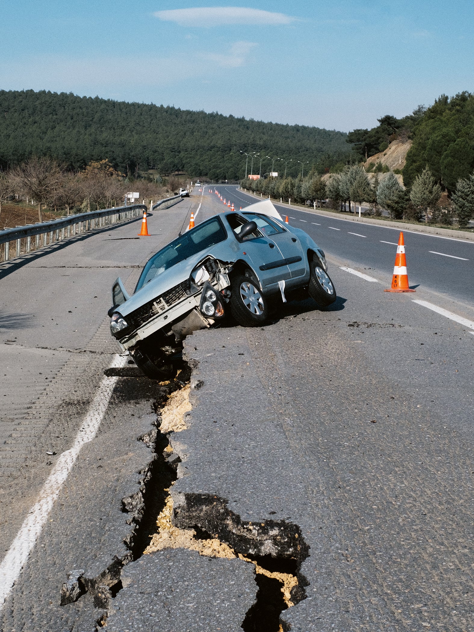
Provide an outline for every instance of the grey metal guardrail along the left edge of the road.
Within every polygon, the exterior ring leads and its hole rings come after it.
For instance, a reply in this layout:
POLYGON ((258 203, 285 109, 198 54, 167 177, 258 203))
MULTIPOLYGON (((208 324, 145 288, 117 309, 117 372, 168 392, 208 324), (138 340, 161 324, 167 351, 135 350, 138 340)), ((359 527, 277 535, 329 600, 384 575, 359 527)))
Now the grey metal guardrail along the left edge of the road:
MULTIPOLYGON (((171 198, 160 200, 152 209, 164 207, 181 198, 174 195, 171 198)), ((147 210, 144 204, 115 207, 113 209, 93 210, 88 213, 78 213, 51 219, 46 222, 37 222, 28 226, 16 226, 16 228, 4 228, 0 230, 0 262, 9 261, 12 258, 21 257, 44 246, 49 246, 56 241, 62 241, 78 234, 103 226, 111 226, 118 222, 128 221, 133 217, 141 216, 147 210), (33 238, 33 240, 32 240, 33 238), (2 246, 4 244, 4 246, 2 246), (13 252, 12 252, 13 251, 13 252), (13 254, 13 256, 12 256, 13 254)))

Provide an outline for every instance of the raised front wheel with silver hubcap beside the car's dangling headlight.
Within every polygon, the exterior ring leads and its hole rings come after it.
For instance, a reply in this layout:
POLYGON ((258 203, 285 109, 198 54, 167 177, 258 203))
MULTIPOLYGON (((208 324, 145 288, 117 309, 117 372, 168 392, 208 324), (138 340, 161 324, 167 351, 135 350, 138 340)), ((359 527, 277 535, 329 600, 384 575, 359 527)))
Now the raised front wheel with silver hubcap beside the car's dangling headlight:
POLYGON ((236 274, 231 279, 230 307, 242 327, 258 327, 267 319, 267 300, 253 276, 236 274))

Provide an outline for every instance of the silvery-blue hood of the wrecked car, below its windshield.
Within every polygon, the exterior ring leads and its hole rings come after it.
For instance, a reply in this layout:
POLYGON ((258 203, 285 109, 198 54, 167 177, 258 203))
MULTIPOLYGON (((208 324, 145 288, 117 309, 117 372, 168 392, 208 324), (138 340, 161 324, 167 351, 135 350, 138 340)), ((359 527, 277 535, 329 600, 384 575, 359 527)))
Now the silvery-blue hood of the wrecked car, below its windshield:
POLYGON ((183 261, 180 261, 178 264, 173 265, 173 267, 164 270, 157 277, 149 281, 143 288, 140 288, 137 293, 130 296, 125 303, 122 303, 117 311, 121 313, 122 316, 126 316, 127 314, 134 312, 139 307, 142 307, 145 303, 148 303, 151 300, 154 300, 158 296, 161 296, 168 289, 174 288, 174 286, 179 283, 183 283, 190 277, 190 274, 197 265, 200 260, 207 257, 212 252, 212 248, 209 250, 202 250, 192 257, 188 257, 183 261))

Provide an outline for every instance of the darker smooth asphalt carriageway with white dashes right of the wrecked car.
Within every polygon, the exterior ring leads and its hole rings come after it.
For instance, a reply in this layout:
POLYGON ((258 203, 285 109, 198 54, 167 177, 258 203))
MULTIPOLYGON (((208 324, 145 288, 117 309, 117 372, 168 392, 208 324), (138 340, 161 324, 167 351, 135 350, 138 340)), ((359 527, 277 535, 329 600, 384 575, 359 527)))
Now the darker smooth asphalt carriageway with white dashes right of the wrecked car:
MULTIPOLYGON (((231 204, 245 208, 258 200, 236 186, 219 186, 231 204)), ((327 217, 276 204, 289 223, 310 234, 325 252, 367 269, 391 274, 395 261, 399 229, 356 224, 344 214, 327 217)), ((404 231, 410 286, 423 286, 451 298, 471 303, 474 300, 474 242, 447 239, 430 234, 404 231)))

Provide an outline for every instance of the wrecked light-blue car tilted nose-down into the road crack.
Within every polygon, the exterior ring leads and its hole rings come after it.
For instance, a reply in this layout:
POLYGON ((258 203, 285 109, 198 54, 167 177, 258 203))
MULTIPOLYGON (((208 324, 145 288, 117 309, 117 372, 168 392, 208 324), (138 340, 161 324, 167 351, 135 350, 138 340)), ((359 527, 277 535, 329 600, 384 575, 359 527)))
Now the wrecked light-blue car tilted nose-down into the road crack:
POLYGON ((320 308, 336 300, 324 252, 264 200, 215 215, 164 246, 143 268, 132 296, 117 279, 111 333, 145 375, 162 379, 173 366, 175 340, 227 313, 243 327, 261 325, 272 297, 286 301, 296 293, 312 296, 320 308))

